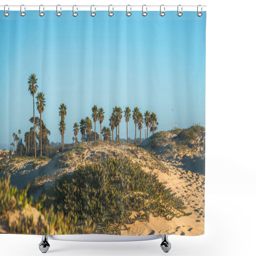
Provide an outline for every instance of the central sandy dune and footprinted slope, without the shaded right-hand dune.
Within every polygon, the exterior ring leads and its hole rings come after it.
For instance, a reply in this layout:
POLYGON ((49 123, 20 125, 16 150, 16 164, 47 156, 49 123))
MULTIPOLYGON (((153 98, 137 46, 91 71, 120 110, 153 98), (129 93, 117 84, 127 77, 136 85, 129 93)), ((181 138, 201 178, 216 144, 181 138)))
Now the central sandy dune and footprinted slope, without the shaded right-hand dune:
MULTIPOLYGON (((157 153, 156 156, 159 156, 157 153)), ((204 233, 204 175, 191 172, 188 165, 182 162, 183 156, 165 159, 152 156, 147 150, 126 143, 79 143, 72 145, 64 153, 52 158, 50 162, 42 162, 32 168, 33 161, 27 160, 14 164, 5 172, 11 172, 11 184, 23 188, 28 181, 37 181, 32 190, 33 197, 40 195, 44 186, 52 184, 55 177, 65 172, 73 172, 77 166, 103 160, 107 156, 127 157, 132 162, 140 164, 146 172, 154 172, 158 179, 163 181, 167 188, 172 188, 188 207, 190 216, 166 220, 162 217, 150 216, 149 221, 136 221, 129 225, 129 231, 123 230, 122 235, 148 235, 148 234, 177 234, 201 235, 204 233), (43 176, 44 175, 44 176, 43 176), (48 176, 46 176, 48 175, 48 176)))

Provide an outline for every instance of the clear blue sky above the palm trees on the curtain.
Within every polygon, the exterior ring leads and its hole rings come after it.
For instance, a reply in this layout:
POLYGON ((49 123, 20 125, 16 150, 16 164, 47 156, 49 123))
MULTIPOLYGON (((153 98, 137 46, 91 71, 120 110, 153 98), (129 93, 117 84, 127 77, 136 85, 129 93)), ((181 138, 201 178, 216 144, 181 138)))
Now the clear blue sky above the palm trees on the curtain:
MULTIPOLYGON (((65 143, 72 142, 73 124, 91 117, 94 104, 105 110, 129 106, 156 112, 158 131, 173 124, 205 126, 206 12, 0 12, 0 143, 10 145, 12 133, 22 137, 32 124, 33 98, 28 76, 36 73, 38 92, 45 94, 42 114, 50 141, 61 141, 58 107, 67 106, 65 143)), ((37 110, 35 115, 39 116, 37 110)), ((134 138, 134 123, 129 137, 134 138)), ((93 126, 94 130, 94 126, 93 126)), ((100 125, 96 124, 99 133, 100 125)), ((143 131, 144 134, 144 131, 143 131)), ((80 140, 80 136, 78 137, 80 140)), ((120 138, 126 138, 124 118, 120 138)))

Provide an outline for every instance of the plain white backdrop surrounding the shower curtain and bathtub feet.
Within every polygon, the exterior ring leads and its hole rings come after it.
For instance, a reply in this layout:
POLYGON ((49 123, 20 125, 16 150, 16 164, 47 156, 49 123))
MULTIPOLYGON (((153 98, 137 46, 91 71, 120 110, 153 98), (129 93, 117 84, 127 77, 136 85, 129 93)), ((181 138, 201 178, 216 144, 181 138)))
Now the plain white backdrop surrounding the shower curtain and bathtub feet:
MULTIPOLYGON (((9 5, 207 5, 205 234, 170 236, 169 255, 255 255, 255 1, 16 1, 9 5)), ((1 35, 2 36, 2 35, 1 35)), ((40 238, 1 234, 0 253, 41 255, 40 238)), ((63 242, 47 255, 163 255, 160 240, 63 242)))

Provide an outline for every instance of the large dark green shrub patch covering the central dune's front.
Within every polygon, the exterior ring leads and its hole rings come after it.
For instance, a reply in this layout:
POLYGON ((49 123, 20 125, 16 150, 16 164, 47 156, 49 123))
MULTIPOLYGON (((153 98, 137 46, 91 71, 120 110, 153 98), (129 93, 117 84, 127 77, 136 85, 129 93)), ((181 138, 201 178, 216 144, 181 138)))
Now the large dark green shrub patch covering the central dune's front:
POLYGON ((102 234, 120 235, 127 224, 149 220, 150 213, 167 220, 190 214, 156 175, 127 159, 108 158, 78 167, 43 193, 47 195, 46 208, 54 205, 54 211, 63 210, 65 216, 72 212, 81 226, 91 218, 97 224, 96 233, 102 234))

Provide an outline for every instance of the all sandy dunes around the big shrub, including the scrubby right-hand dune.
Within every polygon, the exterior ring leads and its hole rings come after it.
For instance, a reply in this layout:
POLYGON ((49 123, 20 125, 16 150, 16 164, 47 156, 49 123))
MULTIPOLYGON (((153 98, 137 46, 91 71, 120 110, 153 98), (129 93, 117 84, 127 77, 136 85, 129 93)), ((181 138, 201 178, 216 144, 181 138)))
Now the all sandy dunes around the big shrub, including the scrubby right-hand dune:
MULTIPOLYGON (((0 176, 11 173, 11 184, 23 188, 31 183, 28 195, 39 198, 41 191, 54 185, 64 173, 98 164, 108 159, 126 159, 138 164, 148 174, 156 174, 166 189, 182 199, 190 216, 174 217, 149 213, 147 220, 135 220, 122 229, 123 235, 204 233, 204 139, 205 131, 172 130, 157 132, 143 141, 141 147, 125 142, 84 142, 70 145, 51 160, 23 157, 1 165, 0 176)), ((135 212, 132 212, 132 216, 135 212)))

